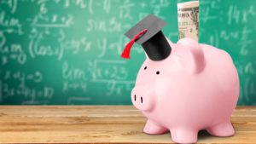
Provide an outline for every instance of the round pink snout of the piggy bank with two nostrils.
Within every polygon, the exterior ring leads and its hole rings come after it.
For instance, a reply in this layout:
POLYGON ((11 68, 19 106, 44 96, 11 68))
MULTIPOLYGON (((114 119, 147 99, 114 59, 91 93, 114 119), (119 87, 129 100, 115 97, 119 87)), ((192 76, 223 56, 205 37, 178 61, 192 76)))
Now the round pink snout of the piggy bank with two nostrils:
POLYGON ((131 91, 131 101, 133 105, 141 111, 150 111, 154 107, 154 96, 151 89, 143 86, 135 87, 131 91))

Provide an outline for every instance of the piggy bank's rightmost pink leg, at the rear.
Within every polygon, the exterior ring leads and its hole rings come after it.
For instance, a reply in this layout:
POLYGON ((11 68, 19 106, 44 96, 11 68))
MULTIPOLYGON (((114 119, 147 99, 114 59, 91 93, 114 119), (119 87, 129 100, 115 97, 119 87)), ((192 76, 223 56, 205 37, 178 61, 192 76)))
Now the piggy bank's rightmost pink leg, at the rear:
POLYGON ((231 136, 235 134, 235 130, 230 122, 217 124, 208 128, 207 131, 214 136, 231 136))

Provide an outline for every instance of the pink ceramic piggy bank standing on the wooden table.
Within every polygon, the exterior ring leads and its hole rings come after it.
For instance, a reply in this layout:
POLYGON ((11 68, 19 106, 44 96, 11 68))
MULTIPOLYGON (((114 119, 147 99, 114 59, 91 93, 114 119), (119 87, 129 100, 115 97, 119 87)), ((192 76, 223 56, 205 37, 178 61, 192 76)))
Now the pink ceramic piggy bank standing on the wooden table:
POLYGON ((146 56, 131 91, 133 105, 148 118, 143 132, 170 131, 177 143, 196 142, 199 130, 234 135, 239 78, 230 55, 189 38, 167 41, 172 53, 164 60, 146 56))

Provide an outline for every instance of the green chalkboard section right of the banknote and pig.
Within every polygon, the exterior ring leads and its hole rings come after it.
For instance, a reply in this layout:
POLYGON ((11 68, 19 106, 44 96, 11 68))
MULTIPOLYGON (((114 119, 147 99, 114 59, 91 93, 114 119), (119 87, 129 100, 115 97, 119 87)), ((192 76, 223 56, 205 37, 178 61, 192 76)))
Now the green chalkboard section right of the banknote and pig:
POLYGON ((256 1, 200 1, 199 40, 224 49, 240 78, 239 105, 256 105, 256 1))

